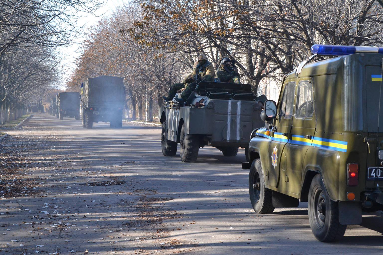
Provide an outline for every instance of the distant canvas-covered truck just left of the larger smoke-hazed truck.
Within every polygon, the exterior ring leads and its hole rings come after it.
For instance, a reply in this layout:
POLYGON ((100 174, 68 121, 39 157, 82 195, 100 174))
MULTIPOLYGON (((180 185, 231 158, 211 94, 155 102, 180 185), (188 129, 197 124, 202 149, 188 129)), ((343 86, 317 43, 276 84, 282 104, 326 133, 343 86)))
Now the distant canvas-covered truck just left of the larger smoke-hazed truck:
POLYGON ((57 94, 57 109, 60 120, 64 117, 74 117, 80 119, 80 93, 60 92, 57 94))

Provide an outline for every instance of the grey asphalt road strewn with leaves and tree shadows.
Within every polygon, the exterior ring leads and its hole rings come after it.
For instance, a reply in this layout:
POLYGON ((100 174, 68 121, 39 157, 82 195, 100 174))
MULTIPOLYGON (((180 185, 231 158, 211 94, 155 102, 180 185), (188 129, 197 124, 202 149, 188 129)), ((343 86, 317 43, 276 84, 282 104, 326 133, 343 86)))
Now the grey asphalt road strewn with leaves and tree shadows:
POLYGON ((21 170, 34 181, 31 195, 0 200, 0 254, 383 252, 381 212, 365 214, 332 244, 314 238, 307 203, 255 214, 244 150, 224 157, 205 147, 196 163, 183 163, 179 153, 162 155, 158 127, 94 123, 88 130, 81 120, 45 114, 7 132, 5 145, 20 147, 29 163, 21 170))

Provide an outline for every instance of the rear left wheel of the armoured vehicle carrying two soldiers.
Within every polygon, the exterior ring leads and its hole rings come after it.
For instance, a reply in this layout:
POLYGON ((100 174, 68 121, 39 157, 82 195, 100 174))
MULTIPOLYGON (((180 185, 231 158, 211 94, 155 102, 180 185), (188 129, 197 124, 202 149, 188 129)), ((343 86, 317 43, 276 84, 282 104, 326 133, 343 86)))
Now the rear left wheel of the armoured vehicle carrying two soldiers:
POLYGON ((180 133, 181 160, 183 162, 196 162, 199 147, 198 136, 185 133, 185 124, 182 124, 180 133))

